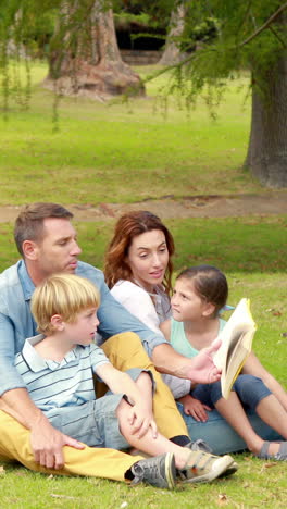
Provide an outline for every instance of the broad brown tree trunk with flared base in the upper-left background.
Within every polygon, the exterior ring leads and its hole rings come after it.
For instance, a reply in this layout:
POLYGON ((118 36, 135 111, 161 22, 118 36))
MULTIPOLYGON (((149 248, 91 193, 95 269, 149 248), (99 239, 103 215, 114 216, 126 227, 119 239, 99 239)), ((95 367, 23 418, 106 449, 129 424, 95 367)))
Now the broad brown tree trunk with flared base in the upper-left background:
POLYGON ((112 10, 103 10, 101 0, 89 8, 86 2, 86 9, 77 0, 72 9, 68 3, 62 3, 45 87, 98 100, 129 91, 142 95, 139 76, 121 58, 112 10))

